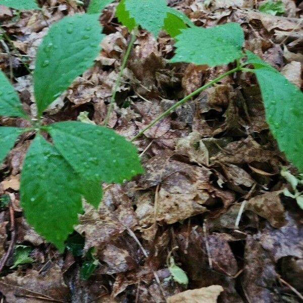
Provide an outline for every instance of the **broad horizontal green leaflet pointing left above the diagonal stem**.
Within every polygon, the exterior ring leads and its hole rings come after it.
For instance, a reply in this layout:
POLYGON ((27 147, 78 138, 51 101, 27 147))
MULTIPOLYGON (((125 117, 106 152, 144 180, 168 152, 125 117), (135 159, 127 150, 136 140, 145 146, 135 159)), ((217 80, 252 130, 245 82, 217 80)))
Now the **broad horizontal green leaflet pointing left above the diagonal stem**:
POLYGON ((188 62, 216 66, 241 58, 244 34, 237 23, 211 28, 181 29, 176 36, 176 55, 170 62, 188 62))

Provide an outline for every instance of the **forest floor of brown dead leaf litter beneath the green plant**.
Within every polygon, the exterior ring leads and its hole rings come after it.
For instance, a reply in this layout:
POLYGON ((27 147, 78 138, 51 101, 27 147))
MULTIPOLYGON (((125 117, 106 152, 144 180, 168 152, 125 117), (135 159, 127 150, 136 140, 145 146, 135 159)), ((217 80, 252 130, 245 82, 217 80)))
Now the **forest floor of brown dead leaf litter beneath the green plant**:
MULTIPOLYGON (((283 0, 281 16, 260 13, 257 0, 168 2, 197 26, 239 23, 245 47, 301 87, 299 1, 283 0)), ((42 12, 20 14, 0 6, 0 68, 31 114, 37 45, 50 24, 84 12, 72 0, 40 3, 42 12)), ((94 66, 47 109, 44 123, 84 117, 103 124, 129 39, 115 7, 100 18, 107 37, 94 66)), ((173 52, 165 32, 156 40, 139 31, 109 127, 131 139, 176 100, 232 67, 168 64, 173 52)), ((26 123, 0 119, 6 126, 26 123)), ((297 172, 268 129, 254 75, 224 78, 138 138, 146 173, 123 185, 105 184, 99 210, 86 206, 64 254, 30 228, 19 205, 20 167, 31 139, 22 135, 0 166, 0 260, 7 258, 1 303, 160 303, 186 289, 195 291, 169 301, 302 302, 303 211, 283 194, 291 185, 281 168, 297 172), (188 285, 170 277, 172 261, 188 285), (90 277, 82 269, 87 280, 80 274, 84 263, 97 265, 90 277)))

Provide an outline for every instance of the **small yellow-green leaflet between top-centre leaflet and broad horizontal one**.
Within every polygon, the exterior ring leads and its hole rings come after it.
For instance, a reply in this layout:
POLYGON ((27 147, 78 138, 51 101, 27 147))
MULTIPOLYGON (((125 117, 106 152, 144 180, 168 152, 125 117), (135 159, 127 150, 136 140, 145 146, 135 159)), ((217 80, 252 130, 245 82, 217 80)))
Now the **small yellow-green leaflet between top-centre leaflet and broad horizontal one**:
POLYGON ((190 19, 180 11, 168 8, 166 18, 164 20, 163 29, 165 29, 171 37, 175 37, 181 33, 180 29, 193 27, 194 24, 190 19))

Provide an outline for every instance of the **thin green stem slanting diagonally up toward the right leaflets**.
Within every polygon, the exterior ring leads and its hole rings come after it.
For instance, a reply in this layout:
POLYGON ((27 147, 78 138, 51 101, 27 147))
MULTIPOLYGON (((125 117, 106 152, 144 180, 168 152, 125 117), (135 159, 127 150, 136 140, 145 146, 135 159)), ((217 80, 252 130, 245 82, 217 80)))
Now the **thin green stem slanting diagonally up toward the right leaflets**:
POLYGON ((189 95, 187 95, 186 97, 184 97, 183 99, 181 99, 180 101, 178 101, 177 103, 175 103, 172 107, 170 107, 168 110, 166 110, 164 113, 162 113, 161 115, 159 115, 155 120, 151 121, 144 129, 142 129, 140 132, 138 132, 138 134, 136 136, 134 136, 131 141, 134 141, 135 139, 137 139, 138 137, 140 137, 147 129, 149 129, 151 126, 154 126, 158 121, 160 121, 161 119, 163 119, 164 117, 166 117, 167 115, 169 115, 174 109, 176 109, 177 107, 179 107, 180 105, 184 104, 185 102, 187 102, 187 100, 189 100, 190 98, 192 98, 193 96, 195 96, 196 94, 198 94, 199 92, 203 91, 204 89, 208 88, 209 86, 212 86, 213 84, 215 84, 216 82, 220 81, 222 78, 233 74, 234 72, 237 72, 241 69, 241 67, 237 66, 236 68, 222 74, 221 76, 215 78, 214 80, 206 83, 205 85, 199 87, 198 89, 196 89, 195 91, 193 91, 192 93, 190 93, 189 95))

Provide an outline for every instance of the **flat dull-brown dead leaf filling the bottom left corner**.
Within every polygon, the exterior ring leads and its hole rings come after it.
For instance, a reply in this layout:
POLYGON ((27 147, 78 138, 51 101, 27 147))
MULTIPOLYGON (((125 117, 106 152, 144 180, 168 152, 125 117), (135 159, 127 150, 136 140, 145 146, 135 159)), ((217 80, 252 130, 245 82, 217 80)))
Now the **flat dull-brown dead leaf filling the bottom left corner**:
POLYGON ((69 300, 69 289, 58 265, 54 265, 43 275, 38 271, 28 270, 26 275, 14 272, 2 277, 0 290, 8 303, 45 303, 45 299, 57 302, 69 300))

